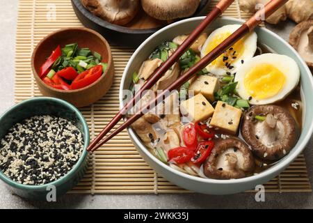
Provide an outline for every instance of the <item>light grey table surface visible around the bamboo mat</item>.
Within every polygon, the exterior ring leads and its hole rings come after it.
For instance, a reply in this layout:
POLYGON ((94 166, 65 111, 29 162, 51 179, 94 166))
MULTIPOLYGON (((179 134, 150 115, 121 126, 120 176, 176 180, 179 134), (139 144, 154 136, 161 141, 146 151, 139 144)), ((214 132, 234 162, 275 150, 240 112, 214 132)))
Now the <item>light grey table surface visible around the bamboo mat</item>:
MULTIPOLYGON (((69 0, 70 1, 70 0, 69 0)), ((14 103, 15 30, 18 0, 0 0, 0 114, 14 103)), ((293 24, 280 28, 268 26, 287 40, 293 24)), ((1 128, 1 127, 0 127, 1 128)), ((305 157, 313 183, 313 140, 307 145, 305 157)), ((313 208, 312 193, 266 193, 264 202, 255 201, 255 194, 241 193, 227 196, 204 194, 141 194, 141 195, 83 195, 66 194, 56 202, 28 201, 12 194, 0 182, 0 208, 313 208)))

